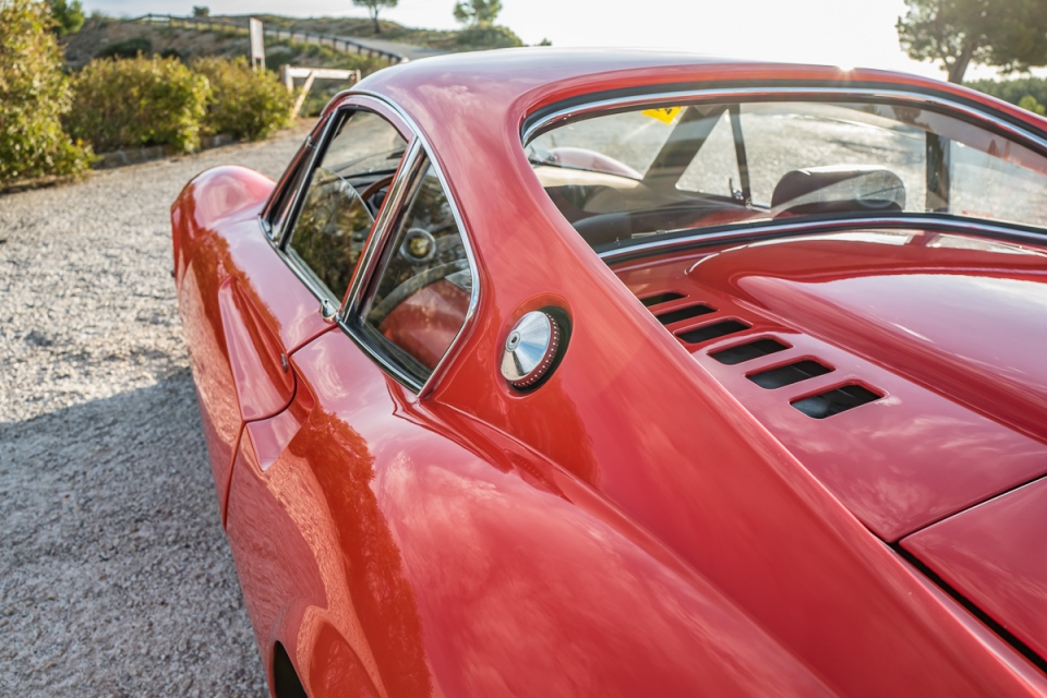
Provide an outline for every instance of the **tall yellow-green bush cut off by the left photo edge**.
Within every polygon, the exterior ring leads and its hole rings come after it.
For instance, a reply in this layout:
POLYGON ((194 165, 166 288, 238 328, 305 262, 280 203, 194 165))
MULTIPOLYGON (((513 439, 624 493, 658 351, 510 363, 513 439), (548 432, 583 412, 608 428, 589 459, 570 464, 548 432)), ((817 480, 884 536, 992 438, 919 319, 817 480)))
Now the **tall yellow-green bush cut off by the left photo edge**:
POLYGON ((91 151, 62 131, 69 79, 44 4, 0 0, 0 182, 76 174, 91 151))

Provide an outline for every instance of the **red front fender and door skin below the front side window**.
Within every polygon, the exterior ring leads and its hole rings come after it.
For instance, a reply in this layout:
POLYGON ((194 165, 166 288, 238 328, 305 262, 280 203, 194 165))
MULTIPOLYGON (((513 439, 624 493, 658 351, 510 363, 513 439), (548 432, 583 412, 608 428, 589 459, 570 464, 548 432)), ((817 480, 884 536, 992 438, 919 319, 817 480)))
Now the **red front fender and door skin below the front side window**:
POLYGON ((256 172, 220 168, 190 182, 172 207, 179 312, 222 510, 243 422, 287 407, 287 354, 330 328, 261 233, 272 191, 256 172))

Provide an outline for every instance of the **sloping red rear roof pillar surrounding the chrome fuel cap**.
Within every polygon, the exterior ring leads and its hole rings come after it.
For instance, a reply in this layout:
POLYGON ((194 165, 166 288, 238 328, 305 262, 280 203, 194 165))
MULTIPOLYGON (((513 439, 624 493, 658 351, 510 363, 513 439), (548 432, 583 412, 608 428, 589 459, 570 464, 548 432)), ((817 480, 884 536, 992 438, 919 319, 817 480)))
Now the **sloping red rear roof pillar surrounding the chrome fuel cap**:
MULTIPOLYGON (((480 267, 477 322, 431 399, 514 435, 593 486, 842 693, 1044 690, 1035 669, 972 633, 962 609, 928 591, 696 366, 559 215, 520 147, 520 124, 554 89, 566 98, 593 87, 578 79, 528 92, 516 72, 524 65, 501 64, 508 76, 497 85, 473 74, 501 120, 476 119, 484 107, 459 98, 470 94, 469 79, 454 72, 389 87, 432 135, 480 267), (503 89, 516 101, 503 106, 503 89), (456 141, 461 132, 468 143, 456 141), (497 370, 506 335, 550 299, 571 316, 570 344, 547 383, 516 394, 497 370)), ((614 77, 603 84, 663 80, 614 77)))

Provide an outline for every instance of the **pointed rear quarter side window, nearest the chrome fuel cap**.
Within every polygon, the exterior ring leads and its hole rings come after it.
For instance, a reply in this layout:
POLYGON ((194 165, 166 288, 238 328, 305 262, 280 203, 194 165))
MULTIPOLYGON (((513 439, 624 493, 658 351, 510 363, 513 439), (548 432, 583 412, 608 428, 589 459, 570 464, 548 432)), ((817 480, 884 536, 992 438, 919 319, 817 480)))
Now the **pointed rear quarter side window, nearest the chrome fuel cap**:
POLYGON ((466 321, 472 284, 461 230, 430 165, 414 182, 385 249, 364 330, 424 383, 466 321))

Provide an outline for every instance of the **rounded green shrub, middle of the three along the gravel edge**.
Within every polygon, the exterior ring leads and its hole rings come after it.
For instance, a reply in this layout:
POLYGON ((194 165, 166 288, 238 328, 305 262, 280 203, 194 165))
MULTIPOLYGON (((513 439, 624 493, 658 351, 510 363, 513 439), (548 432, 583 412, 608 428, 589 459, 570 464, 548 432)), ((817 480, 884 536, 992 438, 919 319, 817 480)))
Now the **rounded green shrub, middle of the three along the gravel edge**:
POLYGON ((97 152, 144 145, 190 152, 200 146, 210 86, 173 58, 95 60, 75 76, 73 88, 67 127, 97 152))

